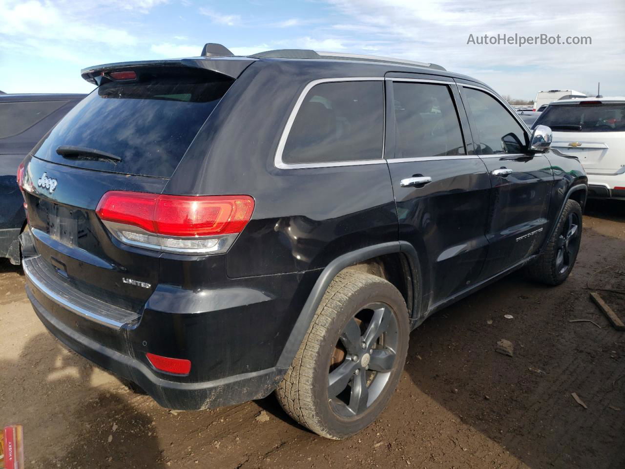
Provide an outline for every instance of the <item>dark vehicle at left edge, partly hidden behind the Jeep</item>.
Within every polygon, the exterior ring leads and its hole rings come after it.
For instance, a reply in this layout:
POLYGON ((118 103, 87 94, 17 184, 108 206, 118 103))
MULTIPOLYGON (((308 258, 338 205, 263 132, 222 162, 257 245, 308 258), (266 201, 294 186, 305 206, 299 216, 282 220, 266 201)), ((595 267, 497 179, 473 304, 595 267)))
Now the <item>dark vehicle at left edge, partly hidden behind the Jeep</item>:
POLYGON ((15 171, 47 131, 86 94, 0 92, 0 257, 19 264, 17 236, 26 226, 15 171))

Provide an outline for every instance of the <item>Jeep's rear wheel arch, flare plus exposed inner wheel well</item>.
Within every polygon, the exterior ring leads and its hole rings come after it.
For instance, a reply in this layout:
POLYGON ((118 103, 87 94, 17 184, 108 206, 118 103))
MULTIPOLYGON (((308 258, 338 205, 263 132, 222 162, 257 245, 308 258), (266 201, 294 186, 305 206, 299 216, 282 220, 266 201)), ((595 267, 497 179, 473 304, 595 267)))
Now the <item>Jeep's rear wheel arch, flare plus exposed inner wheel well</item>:
POLYGON ((331 263, 323 269, 319 278, 317 278, 291 330, 286 345, 284 345, 282 349, 282 353, 276 364, 278 368, 289 368, 289 366, 291 366, 291 362, 304 339, 304 335, 306 335, 306 331, 311 324, 312 318, 317 311, 319 303, 321 303, 327 287, 339 272, 346 269, 368 271, 373 275, 381 276, 389 280, 394 286, 398 287, 397 289, 402 293, 404 299, 407 299, 406 304, 411 303, 411 305, 408 306, 411 321, 414 321, 416 316, 419 315, 421 311, 421 288, 419 288, 421 285, 421 266, 419 265, 416 250, 410 243, 406 243, 405 241, 392 241, 390 243, 367 246, 366 248, 345 253, 332 260, 331 263), (392 260, 392 256, 396 256, 394 261, 392 260), (391 273, 391 278, 387 278, 384 275, 377 275, 383 274, 384 270, 388 271, 389 267, 394 265, 394 262, 398 263, 395 266, 402 266, 401 276, 397 276, 396 273, 391 273), (404 286, 401 285, 401 281, 405 282, 404 286), (397 285, 398 283, 400 284, 397 285))

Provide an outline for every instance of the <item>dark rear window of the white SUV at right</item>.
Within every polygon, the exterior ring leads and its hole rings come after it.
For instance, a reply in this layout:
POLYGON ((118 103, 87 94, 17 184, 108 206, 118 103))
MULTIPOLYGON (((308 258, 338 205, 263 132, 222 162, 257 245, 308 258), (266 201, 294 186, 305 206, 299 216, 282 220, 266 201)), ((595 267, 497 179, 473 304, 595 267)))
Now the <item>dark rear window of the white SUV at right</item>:
POLYGON ((625 104, 561 104, 549 106, 534 123, 557 132, 623 132, 625 104))

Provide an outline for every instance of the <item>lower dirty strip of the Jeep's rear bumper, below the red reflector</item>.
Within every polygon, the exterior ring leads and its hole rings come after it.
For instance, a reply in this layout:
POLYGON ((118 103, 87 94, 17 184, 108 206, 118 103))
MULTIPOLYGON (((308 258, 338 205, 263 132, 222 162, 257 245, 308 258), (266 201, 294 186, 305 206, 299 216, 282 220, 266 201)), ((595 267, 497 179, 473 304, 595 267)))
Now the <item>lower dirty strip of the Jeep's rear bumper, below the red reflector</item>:
POLYGON ((141 386, 166 408, 199 410, 260 399, 276 388, 286 371, 269 368, 199 383, 169 381, 136 358, 108 348, 64 324, 37 299, 39 292, 30 281, 26 293, 39 320, 56 338, 96 365, 141 386))

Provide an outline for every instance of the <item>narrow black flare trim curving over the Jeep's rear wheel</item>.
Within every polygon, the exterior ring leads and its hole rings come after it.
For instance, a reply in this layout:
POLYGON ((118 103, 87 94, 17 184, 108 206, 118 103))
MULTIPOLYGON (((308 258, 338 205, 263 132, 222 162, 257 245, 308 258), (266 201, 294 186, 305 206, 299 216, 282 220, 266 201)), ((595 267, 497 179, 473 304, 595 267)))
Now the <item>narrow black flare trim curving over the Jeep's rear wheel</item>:
POLYGON ((286 371, 289 366, 291 366, 297 350, 299 350, 299 346, 301 345, 302 340, 304 340, 304 335, 306 335, 306 331, 311 324, 312 318, 319 307, 319 303, 321 303, 321 299, 323 298, 324 293, 326 293, 327 287, 330 285, 332 280, 334 280, 337 273, 344 268, 359 262, 364 262, 377 256, 392 253, 403 253, 407 256, 408 263, 412 271, 414 301, 412 301, 413 311, 411 311, 411 313, 414 317, 415 312, 418 313, 421 309, 421 296, 419 292, 419 286, 421 285, 421 268, 419 266, 417 251, 414 249, 414 246, 406 241, 391 241, 389 243, 366 246, 365 248, 345 253, 332 260, 322 270, 319 278, 317 278, 317 281, 312 287, 306 303, 304 303, 304 307, 299 313, 299 317, 291 330, 291 334, 286 341, 286 345, 284 345, 284 348, 282 349, 282 353, 278 358, 276 367, 284 368, 286 371))

